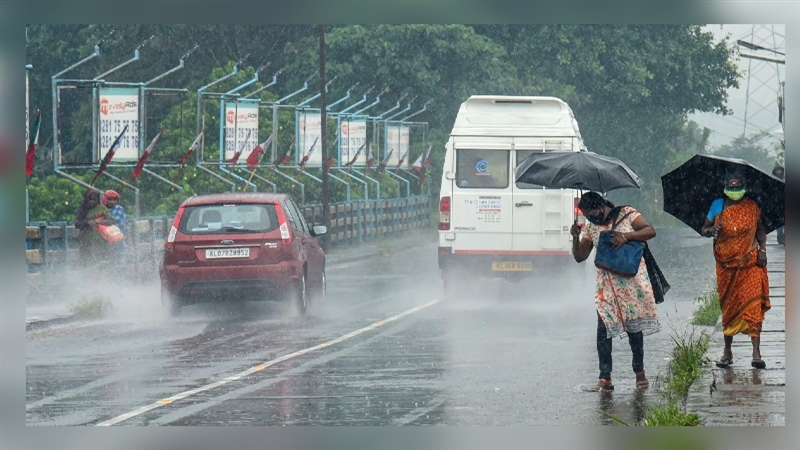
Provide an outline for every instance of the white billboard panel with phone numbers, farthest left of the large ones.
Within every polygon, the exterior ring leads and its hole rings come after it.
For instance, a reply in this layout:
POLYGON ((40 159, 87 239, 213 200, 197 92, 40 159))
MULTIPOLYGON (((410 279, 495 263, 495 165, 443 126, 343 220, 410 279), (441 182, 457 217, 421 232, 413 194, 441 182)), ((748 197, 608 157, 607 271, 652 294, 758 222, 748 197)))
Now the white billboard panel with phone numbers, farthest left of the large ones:
POLYGON ((128 126, 119 140, 114 162, 139 160, 139 90, 137 88, 100 88, 98 114, 100 130, 99 152, 94 162, 99 163, 111 148, 114 139, 128 126))

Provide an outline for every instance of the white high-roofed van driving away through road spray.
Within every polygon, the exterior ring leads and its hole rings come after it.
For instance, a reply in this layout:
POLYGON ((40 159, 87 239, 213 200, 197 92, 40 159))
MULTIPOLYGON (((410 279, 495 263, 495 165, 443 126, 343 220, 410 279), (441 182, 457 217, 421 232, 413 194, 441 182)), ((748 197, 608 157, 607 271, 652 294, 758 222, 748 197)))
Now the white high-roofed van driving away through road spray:
POLYGON ((480 276, 518 280, 571 262, 578 191, 514 181, 534 152, 586 150, 555 97, 474 95, 447 141, 439 197, 439 268, 447 297, 480 276))

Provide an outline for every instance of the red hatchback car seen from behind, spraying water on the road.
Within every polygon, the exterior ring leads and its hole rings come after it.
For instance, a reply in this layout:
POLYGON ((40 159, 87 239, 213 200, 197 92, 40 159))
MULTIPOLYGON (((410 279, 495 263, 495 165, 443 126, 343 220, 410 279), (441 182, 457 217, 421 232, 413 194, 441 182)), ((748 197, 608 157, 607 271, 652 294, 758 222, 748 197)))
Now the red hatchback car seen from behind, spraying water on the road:
POLYGON ((172 315, 192 303, 281 300, 305 314, 325 297, 325 253, 287 194, 198 195, 181 204, 159 267, 172 315))

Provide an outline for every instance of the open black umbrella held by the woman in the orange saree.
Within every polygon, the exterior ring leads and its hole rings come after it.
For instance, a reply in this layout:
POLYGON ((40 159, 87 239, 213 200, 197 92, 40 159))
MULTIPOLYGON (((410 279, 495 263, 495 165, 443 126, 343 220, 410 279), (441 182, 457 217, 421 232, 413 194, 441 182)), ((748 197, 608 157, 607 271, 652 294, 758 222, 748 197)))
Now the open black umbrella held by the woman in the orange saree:
POLYGON ((743 159, 695 155, 661 177, 664 211, 700 233, 714 199, 723 197, 725 174, 742 174, 747 196, 761 207, 761 223, 767 233, 783 226, 784 183, 743 159))

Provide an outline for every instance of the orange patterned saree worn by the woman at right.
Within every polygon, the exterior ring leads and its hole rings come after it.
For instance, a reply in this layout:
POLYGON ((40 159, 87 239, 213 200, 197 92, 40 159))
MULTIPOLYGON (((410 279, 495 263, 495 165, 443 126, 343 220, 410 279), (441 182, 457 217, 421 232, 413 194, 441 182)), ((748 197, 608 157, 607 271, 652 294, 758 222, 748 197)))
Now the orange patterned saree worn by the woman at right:
POLYGON ((722 332, 758 337, 770 309, 767 268, 756 265, 756 230, 761 209, 752 199, 724 208, 714 219, 722 228, 714 240, 722 332))

